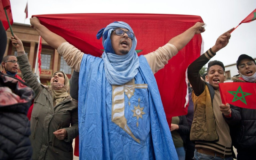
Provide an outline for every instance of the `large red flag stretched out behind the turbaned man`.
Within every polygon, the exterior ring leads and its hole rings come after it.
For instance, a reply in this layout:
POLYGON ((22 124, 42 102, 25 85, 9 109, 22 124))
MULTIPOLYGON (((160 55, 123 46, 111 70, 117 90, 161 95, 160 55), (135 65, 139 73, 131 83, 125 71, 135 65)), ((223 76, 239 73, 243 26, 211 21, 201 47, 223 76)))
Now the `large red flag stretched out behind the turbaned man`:
MULTIPOLYGON (((114 21, 123 21, 131 26, 138 40, 138 55, 156 50, 196 22, 203 22, 200 16, 171 14, 51 14, 35 17, 49 30, 94 56, 101 56, 104 49, 102 40, 96 39, 97 32, 114 21)), ((164 69, 155 74, 169 125, 171 117, 187 114, 187 107, 184 107, 186 69, 200 56, 201 45, 201 35, 195 35, 164 69)))

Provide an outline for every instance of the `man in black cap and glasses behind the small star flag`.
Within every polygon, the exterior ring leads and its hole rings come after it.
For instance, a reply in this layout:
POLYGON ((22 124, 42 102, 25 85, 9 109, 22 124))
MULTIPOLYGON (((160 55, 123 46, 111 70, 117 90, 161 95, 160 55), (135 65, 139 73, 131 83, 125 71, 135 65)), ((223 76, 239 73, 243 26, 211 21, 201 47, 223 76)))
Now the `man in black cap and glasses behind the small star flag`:
MULTIPOLYGON (((240 74, 233 77, 233 82, 256 82, 255 60, 242 54, 237 60, 237 69, 240 74)), ((236 106, 222 105, 221 111, 230 126, 232 143, 237 149, 237 159, 255 159, 256 152, 256 110, 236 106)))

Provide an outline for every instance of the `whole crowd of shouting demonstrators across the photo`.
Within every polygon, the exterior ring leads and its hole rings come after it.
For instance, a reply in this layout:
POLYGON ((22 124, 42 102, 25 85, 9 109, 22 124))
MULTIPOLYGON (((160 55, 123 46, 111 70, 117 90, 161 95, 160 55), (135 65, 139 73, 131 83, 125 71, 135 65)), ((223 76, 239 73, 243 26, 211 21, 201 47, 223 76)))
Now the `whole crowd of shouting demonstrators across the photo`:
MULTIPOLYGON (((154 74, 195 34, 205 31, 204 23, 197 22, 154 52, 137 56, 131 27, 113 22, 97 33, 98 39, 102 37, 102 57, 82 53, 36 17, 30 23, 74 73, 69 81, 57 71, 49 86, 42 85, 16 35, 11 43, 17 57, 2 58, 7 38, 1 33, 0 127, 12 130, 0 132, 0 159, 73 159, 72 142, 78 134, 80 159, 232 160, 233 146, 238 160, 254 159, 256 111, 222 104, 218 83, 225 81, 225 67, 220 61, 209 62, 229 43, 233 29, 189 65, 188 114, 173 117, 169 128, 154 74), (199 71, 206 63, 203 80, 199 71), (18 67, 22 78, 16 74, 18 67)), ((237 69, 240 76, 233 81, 256 82, 252 57, 239 56, 237 69)))

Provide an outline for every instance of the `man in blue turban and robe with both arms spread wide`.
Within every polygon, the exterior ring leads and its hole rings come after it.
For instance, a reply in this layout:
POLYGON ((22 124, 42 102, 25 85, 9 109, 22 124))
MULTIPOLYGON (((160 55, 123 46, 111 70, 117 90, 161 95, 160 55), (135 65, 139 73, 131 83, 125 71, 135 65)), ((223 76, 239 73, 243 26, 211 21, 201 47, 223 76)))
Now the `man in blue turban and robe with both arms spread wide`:
POLYGON ((154 73, 194 36, 196 23, 165 46, 137 56, 137 40, 125 22, 101 29, 102 58, 82 53, 40 24, 31 25, 79 73, 80 159, 178 159, 154 73))

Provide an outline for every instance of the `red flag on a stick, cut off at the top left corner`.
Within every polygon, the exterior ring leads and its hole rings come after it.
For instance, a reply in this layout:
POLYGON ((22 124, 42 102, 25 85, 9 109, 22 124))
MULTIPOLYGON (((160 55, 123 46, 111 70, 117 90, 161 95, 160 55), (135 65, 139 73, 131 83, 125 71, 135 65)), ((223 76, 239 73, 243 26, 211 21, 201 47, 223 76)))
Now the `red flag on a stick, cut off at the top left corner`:
POLYGON ((0 19, 3 23, 3 26, 5 27, 5 30, 9 28, 9 24, 5 15, 5 10, 7 12, 7 16, 9 18, 10 24, 13 24, 13 15, 11 14, 11 5, 10 5, 10 0, 1 0, 0 1, 0 19))

